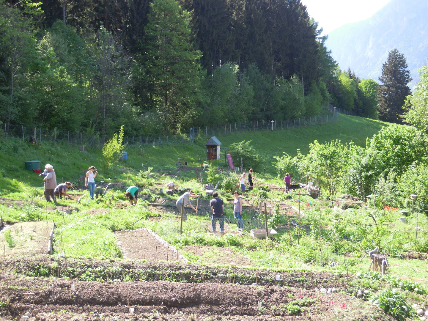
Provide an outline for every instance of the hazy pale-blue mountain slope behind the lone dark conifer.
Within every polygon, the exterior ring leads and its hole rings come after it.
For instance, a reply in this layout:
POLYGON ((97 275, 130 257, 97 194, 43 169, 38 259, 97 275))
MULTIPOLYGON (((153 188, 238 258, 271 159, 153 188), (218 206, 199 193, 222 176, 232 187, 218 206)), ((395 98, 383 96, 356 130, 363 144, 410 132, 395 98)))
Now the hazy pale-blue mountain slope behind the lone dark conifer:
POLYGON ((388 52, 397 48, 407 59, 413 81, 428 57, 428 1, 391 0, 371 18, 347 24, 328 35, 327 48, 340 68, 378 81, 388 52))

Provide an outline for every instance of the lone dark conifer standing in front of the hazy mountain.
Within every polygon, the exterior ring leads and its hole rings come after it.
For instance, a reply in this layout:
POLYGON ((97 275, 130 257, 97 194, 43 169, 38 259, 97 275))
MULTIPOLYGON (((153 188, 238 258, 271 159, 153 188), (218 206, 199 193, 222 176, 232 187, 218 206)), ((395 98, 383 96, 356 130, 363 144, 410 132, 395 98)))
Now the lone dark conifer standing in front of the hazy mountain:
POLYGON ((406 96, 410 94, 407 84, 412 80, 407 69, 406 58, 397 49, 389 51, 382 65, 382 84, 378 87, 379 118, 386 122, 401 123, 402 109, 406 96))

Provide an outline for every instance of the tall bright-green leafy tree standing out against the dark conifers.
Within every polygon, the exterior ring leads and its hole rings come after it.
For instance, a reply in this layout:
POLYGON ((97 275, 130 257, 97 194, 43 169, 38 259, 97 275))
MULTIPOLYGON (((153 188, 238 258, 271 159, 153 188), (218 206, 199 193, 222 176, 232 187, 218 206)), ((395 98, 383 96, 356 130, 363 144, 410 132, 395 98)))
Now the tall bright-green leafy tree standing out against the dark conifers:
POLYGON ((165 126, 182 131, 199 112, 201 53, 190 39, 190 15, 176 1, 154 0, 150 7, 146 72, 153 101, 165 126))

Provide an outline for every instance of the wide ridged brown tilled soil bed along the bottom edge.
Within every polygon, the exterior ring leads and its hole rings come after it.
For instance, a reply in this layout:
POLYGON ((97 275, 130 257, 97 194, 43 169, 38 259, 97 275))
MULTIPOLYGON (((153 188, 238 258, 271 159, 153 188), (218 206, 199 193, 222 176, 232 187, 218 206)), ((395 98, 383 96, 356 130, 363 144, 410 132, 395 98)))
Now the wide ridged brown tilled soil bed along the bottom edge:
MULTIPOLYGON (((0 292, 3 320, 26 314, 37 321, 368 320, 380 311, 345 294, 230 283, 82 282, 3 273, 0 292), (290 315, 287 305, 298 302, 300 310, 290 315)), ((391 320, 383 314, 376 319, 391 320)))

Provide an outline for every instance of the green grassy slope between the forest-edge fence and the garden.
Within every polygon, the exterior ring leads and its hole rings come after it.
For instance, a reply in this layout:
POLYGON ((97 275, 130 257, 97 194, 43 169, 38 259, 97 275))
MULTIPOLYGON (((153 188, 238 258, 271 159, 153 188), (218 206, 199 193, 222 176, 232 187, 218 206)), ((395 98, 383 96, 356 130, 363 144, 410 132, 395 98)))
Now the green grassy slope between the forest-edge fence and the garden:
MULTIPOLYGON (((380 122, 361 117, 339 115, 334 124, 318 125, 307 128, 236 133, 227 136, 219 135, 223 147, 242 140, 251 140, 252 146, 265 158, 264 166, 267 172, 274 172, 271 162, 274 155, 287 152, 296 155, 300 149, 306 153, 309 143, 339 139, 342 142, 354 141, 364 146, 366 138, 372 137, 386 122, 380 122)), ((198 165, 205 161, 205 142, 207 137, 197 137, 195 144, 185 143, 174 146, 144 146, 141 156, 140 146, 127 146, 128 160, 118 163, 118 166, 108 174, 99 171, 99 180, 124 181, 133 184, 136 173, 144 168, 152 167, 156 171, 166 171, 175 168, 177 158, 185 158, 189 165, 198 165)), ((100 169, 101 146, 91 148, 86 154, 79 146, 62 143, 42 143, 30 145, 15 138, 1 138, 0 162, 0 197, 26 198, 40 195, 43 181, 36 173, 24 169, 24 161, 40 160, 42 167, 51 163, 56 170, 57 181, 71 181, 83 184, 81 176, 89 166, 100 169), (34 187, 38 187, 35 189, 34 187)), ((233 150, 232 150, 233 153, 233 150)), ((223 158, 222 154, 222 158, 223 158)), ((135 183, 134 183, 135 184, 135 183)))

